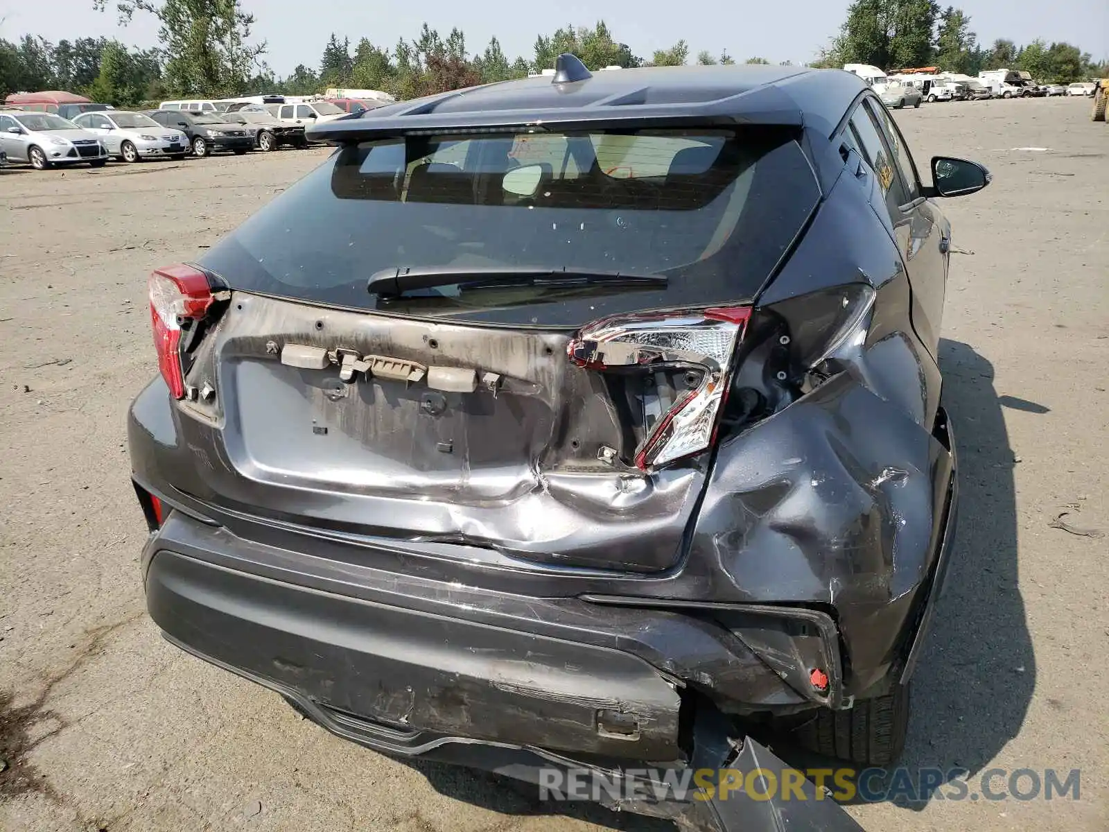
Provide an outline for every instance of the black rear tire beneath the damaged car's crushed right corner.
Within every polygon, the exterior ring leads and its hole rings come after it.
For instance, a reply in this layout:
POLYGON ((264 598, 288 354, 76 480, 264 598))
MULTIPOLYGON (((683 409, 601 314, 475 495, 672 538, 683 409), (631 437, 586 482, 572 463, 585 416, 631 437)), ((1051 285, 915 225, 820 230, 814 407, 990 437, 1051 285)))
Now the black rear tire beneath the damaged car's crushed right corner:
POLYGON ((821 708, 794 729, 794 738, 824 757, 884 768, 896 762, 905 749, 908 701, 908 686, 898 684, 883 697, 855 702, 847 711, 821 708))

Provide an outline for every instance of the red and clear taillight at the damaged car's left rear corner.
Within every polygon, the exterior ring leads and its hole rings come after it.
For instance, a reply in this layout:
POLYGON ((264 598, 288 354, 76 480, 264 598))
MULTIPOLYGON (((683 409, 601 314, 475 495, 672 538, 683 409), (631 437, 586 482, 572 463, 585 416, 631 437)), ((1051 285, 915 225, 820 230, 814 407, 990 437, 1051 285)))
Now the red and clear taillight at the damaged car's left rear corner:
POLYGON ((157 368, 173 397, 184 398, 181 323, 186 319, 200 321, 212 305, 207 275, 193 266, 166 266, 151 273, 147 286, 157 368))

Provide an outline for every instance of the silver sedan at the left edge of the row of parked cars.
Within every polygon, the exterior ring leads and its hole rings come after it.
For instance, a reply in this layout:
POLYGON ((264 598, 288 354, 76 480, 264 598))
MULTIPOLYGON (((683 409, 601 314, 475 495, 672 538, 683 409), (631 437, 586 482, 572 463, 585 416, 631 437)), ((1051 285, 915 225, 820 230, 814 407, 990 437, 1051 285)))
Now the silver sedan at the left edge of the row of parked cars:
POLYGON ((37 171, 81 162, 93 168, 108 163, 108 150, 94 133, 53 113, 0 113, 0 150, 9 162, 27 162, 37 171))

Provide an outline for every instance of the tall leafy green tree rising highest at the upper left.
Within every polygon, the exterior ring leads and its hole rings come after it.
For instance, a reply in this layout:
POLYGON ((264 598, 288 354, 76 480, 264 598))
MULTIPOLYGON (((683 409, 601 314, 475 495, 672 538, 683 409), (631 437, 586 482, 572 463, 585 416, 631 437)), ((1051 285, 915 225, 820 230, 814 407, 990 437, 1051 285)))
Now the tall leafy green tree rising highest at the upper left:
MULTIPOLYGON (((93 0, 103 10, 108 0, 93 0)), ((231 95, 243 92, 266 51, 248 44, 254 16, 240 0, 119 0, 121 23, 136 11, 159 22, 166 54, 164 77, 175 95, 231 95)))

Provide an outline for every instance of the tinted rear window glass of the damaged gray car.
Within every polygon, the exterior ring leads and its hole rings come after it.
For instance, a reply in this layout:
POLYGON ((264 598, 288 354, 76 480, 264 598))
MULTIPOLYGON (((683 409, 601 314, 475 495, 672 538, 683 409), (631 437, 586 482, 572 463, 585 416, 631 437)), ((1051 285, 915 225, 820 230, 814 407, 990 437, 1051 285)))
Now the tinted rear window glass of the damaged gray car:
MULTIPOLYGON (((384 270, 596 270, 669 277, 637 306, 750 300, 820 193, 792 131, 421 135, 340 146, 211 248, 232 287, 379 307, 384 270)), ((420 314, 479 311, 437 287, 420 314)), ((537 292, 530 306, 556 301, 537 292)), ((529 308, 521 322, 549 315, 529 308)))

